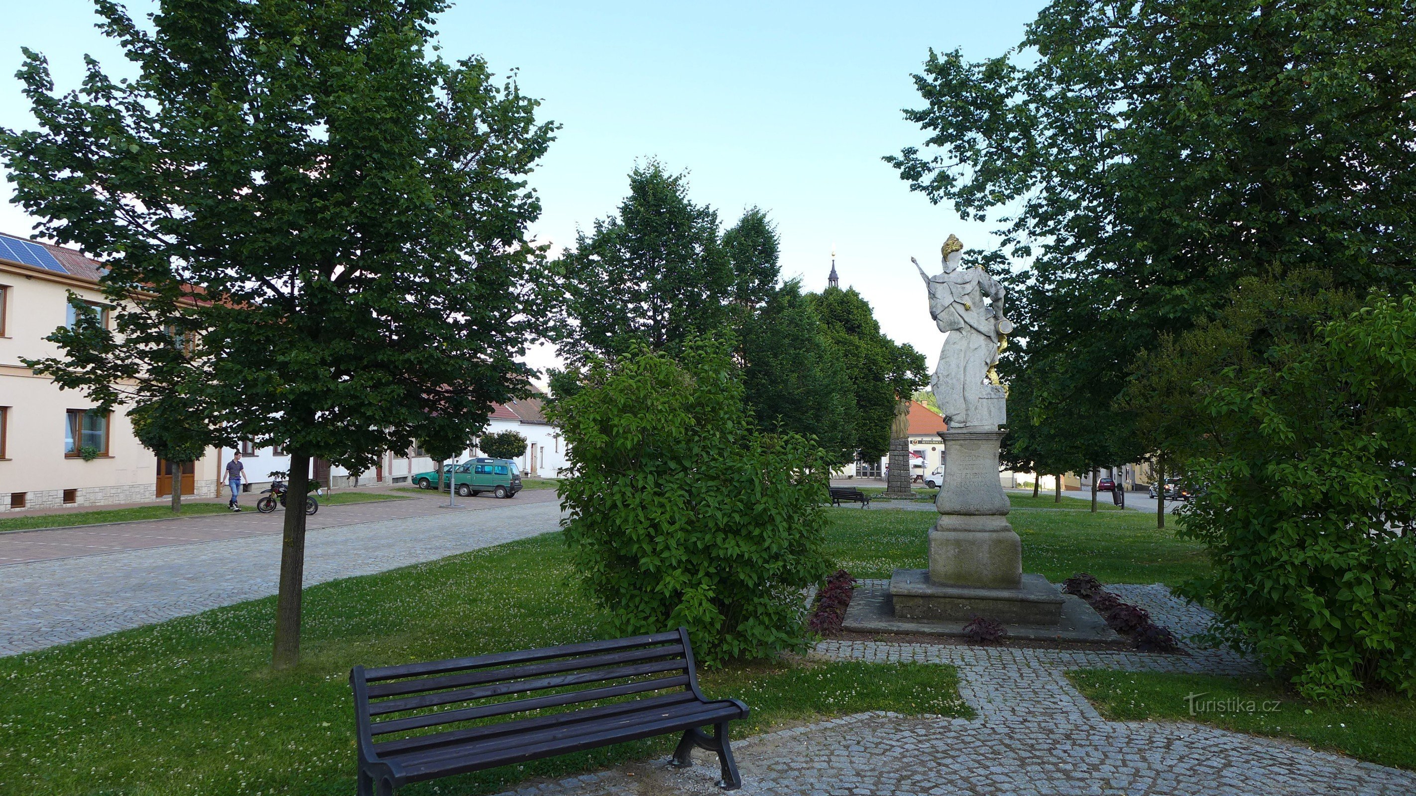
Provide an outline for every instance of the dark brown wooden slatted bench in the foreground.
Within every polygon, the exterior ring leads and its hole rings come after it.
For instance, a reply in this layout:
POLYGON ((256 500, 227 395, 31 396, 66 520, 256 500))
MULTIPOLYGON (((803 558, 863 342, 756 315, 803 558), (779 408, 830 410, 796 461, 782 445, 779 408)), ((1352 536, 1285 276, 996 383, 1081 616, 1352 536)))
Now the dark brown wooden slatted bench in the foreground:
POLYGON ((722 763, 721 785, 742 786, 728 722, 745 718, 748 706, 704 697, 684 628, 432 663, 355 666, 350 684, 360 796, 389 796, 409 782, 670 732, 684 734, 675 766, 692 765, 694 747, 709 749, 722 763), (506 700, 511 694, 525 696, 506 700), (709 725, 712 735, 700 730, 709 725))

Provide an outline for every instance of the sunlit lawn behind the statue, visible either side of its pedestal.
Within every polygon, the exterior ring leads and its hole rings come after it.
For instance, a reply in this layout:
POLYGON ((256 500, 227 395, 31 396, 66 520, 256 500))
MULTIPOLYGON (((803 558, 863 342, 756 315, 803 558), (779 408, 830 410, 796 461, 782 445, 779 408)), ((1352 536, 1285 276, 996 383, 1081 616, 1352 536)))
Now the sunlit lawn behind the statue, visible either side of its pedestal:
MULTIPOLYGON (((1031 495, 1010 495, 1017 506, 1031 495)), ((927 567, 929 512, 831 509, 827 537, 838 564, 861 578, 888 578, 895 567, 927 567)), ((1092 573, 1102 583, 1164 583, 1202 574, 1204 550, 1157 530, 1155 517, 1141 512, 1096 512, 1086 503, 1070 509, 1018 508, 1008 515, 1022 537, 1022 570, 1059 583, 1092 573)))

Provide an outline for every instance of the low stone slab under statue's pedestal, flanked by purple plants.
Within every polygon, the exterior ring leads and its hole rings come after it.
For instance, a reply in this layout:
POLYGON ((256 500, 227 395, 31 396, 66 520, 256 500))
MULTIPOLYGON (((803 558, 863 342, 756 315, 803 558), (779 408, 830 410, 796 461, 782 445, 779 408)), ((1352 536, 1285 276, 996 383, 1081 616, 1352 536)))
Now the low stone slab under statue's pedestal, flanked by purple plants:
MULTIPOLYGON (((1061 598, 1061 602, 1056 604, 1058 618, 1052 624, 1029 625, 1010 622, 994 615, 994 612, 983 615, 1000 619, 1008 631, 1007 639, 1086 643, 1107 648, 1124 645, 1124 639, 1116 635, 1116 631, 1106 626, 1106 621, 1085 601, 1070 594, 1062 594, 1061 598)), ((845 621, 841 624, 841 629, 852 633, 966 636, 964 625, 971 621, 973 615, 963 619, 912 619, 899 616, 896 615, 896 602, 891 597, 891 581, 875 580, 862 581, 857 587, 855 595, 851 598, 851 605, 845 611, 845 621)))

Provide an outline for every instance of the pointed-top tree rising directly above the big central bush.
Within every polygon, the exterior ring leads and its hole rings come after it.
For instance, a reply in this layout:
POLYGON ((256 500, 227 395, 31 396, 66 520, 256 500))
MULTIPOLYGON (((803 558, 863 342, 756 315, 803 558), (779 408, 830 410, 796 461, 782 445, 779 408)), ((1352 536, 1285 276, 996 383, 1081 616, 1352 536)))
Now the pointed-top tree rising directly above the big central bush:
POLYGON ((654 160, 634 167, 629 187, 619 212, 578 233, 552 267, 552 325, 571 363, 620 356, 640 342, 673 349, 728 324, 735 274, 718 213, 690 201, 687 177, 654 160))

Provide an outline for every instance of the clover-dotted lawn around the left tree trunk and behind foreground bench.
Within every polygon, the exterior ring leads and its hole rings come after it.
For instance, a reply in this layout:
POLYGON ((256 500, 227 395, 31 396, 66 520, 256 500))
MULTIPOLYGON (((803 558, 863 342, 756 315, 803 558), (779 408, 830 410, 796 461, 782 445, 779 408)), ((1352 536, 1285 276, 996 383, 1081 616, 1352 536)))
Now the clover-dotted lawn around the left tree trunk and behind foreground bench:
MULTIPOLYGON (((879 512, 879 516, 886 515, 879 512)), ((0 657, 0 790, 25 795, 348 795, 348 669, 610 636, 568 588, 559 534, 304 592, 303 663, 269 670, 275 599, 0 657)), ((742 737, 892 710, 969 715, 953 669, 749 665, 704 674, 753 714, 742 737)), ((666 754, 671 738, 408 788, 484 793, 666 754)))

